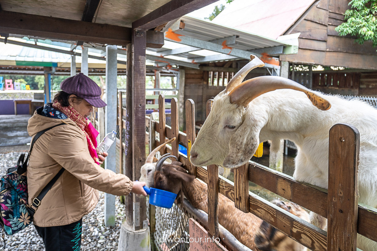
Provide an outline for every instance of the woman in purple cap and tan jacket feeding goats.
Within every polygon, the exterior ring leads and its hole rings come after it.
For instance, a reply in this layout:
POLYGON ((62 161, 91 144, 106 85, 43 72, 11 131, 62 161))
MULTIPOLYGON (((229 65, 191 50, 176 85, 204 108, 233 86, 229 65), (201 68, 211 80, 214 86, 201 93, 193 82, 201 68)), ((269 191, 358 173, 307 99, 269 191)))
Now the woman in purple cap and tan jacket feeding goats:
POLYGON ((64 123, 38 138, 28 166, 29 205, 61 168, 65 169, 34 214, 34 226, 46 251, 80 250, 82 217, 97 204, 97 189, 118 196, 130 192, 146 195, 145 183, 99 166, 107 153, 102 156, 95 151, 98 132, 87 116, 92 106, 106 105, 100 87, 79 73, 61 82, 60 88, 53 103, 38 108, 28 121, 30 136, 64 123))

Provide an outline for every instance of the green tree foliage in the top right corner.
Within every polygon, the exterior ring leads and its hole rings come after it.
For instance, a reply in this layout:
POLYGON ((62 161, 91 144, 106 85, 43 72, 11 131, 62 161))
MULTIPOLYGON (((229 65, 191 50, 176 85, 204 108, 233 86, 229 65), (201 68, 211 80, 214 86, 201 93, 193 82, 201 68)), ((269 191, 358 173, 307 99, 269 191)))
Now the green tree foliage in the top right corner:
POLYGON ((377 46, 377 0, 352 0, 346 10, 345 23, 340 24, 335 30, 340 36, 356 36, 356 42, 372 41, 373 47, 377 46))

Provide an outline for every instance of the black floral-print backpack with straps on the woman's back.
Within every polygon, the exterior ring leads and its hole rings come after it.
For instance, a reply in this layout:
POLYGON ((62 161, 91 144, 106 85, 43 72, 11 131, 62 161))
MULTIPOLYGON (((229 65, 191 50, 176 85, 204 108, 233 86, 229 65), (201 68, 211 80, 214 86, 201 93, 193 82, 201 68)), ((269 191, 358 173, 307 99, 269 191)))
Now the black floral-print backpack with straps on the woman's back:
MULTIPOLYGON (((59 125, 64 125, 61 123, 59 125)), ((55 126, 59 126, 55 125, 55 126)), ((21 154, 17 161, 17 166, 8 169, 6 175, 0 180, 0 227, 6 235, 12 235, 31 224, 35 210, 37 210, 41 199, 54 185, 64 169, 62 168, 57 175, 42 189, 41 193, 33 199, 32 205, 28 204, 28 178, 26 170, 29 156, 35 141, 44 132, 49 129, 38 132, 32 140, 28 157, 25 159, 25 153, 21 154)), ((5 241, 4 241, 5 243, 5 241)))

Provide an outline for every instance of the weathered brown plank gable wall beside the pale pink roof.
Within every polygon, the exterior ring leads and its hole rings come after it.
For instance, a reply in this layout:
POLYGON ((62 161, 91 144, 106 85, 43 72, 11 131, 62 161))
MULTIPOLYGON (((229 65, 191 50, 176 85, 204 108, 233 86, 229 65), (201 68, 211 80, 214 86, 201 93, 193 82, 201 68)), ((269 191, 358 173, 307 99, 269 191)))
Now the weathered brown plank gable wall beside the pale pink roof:
MULTIPOLYGON (((377 70, 377 48, 370 41, 357 44, 354 38, 339 37, 335 27, 343 23, 348 0, 321 0, 291 33, 300 32, 299 52, 280 60, 298 64, 342 66, 377 70)), ((287 35, 287 34, 284 34, 287 35)))

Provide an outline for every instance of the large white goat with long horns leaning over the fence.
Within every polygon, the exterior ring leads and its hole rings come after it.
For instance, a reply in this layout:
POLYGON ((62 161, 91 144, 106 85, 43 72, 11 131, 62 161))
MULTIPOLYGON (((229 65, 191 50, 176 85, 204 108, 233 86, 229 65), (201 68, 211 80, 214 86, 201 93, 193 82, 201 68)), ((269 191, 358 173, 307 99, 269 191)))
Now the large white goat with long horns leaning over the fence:
MULTIPOLYGON (((329 129, 349 123, 360 132, 359 202, 377 207, 377 110, 360 100, 325 95, 278 76, 242 82, 250 70, 264 65, 256 56, 250 58, 215 97, 191 148, 191 162, 238 167, 250 160, 259 142, 271 140, 271 151, 276 152, 280 139, 288 139, 297 145, 293 177, 327 189, 329 129)), ((312 223, 326 227, 326 219, 316 214, 312 223)), ((360 235, 357 247, 377 251, 377 243, 360 235)))

